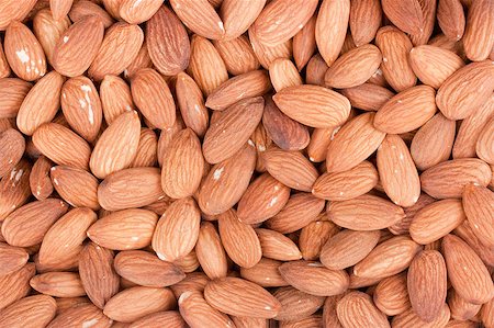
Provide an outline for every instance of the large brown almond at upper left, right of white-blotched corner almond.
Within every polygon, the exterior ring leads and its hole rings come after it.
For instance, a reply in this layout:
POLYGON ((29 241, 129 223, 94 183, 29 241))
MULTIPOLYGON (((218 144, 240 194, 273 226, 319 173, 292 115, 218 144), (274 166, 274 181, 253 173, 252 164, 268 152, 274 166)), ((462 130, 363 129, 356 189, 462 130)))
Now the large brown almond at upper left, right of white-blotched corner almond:
POLYGON ((53 52, 52 65, 67 77, 82 75, 97 56, 103 33, 103 22, 96 15, 85 16, 74 23, 60 35, 53 52), (83 56, 81 48, 85 49, 83 56))

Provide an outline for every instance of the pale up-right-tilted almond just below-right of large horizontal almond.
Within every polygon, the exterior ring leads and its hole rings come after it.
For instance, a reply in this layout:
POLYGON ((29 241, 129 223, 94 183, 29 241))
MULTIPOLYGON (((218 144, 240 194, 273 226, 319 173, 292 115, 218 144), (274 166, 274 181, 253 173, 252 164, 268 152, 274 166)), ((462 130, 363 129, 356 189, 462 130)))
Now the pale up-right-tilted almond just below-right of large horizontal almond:
POLYGON ((359 115, 338 131, 327 148, 326 168, 329 173, 350 170, 378 149, 385 134, 374 128, 374 115, 359 115))

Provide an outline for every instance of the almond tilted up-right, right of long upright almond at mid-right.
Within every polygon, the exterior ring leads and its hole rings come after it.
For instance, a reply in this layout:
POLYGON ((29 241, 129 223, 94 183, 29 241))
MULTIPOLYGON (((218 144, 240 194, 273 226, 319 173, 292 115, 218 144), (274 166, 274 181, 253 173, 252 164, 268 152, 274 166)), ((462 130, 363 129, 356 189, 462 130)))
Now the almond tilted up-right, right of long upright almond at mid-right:
POLYGON ((448 160, 454 143, 454 121, 437 113, 415 134, 409 152, 417 169, 424 171, 448 160))

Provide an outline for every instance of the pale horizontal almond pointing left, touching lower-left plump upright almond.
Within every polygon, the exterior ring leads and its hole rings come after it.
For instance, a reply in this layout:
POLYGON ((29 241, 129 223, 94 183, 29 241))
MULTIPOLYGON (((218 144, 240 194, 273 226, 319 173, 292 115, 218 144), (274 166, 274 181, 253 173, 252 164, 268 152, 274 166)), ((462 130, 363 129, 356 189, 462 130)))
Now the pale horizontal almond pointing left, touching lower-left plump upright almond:
POLYGON ((100 218, 87 234, 101 247, 115 250, 139 249, 150 245, 157 222, 158 216, 154 212, 123 210, 100 218))

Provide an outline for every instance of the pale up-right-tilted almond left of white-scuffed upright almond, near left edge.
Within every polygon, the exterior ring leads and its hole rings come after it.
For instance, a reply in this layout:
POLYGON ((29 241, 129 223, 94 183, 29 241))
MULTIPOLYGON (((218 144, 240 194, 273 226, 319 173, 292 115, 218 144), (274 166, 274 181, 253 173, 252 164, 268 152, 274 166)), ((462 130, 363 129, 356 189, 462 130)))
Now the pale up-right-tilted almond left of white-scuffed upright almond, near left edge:
POLYGON ((40 125, 55 117, 60 105, 63 83, 64 77, 50 71, 27 92, 16 117, 18 127, 23 134, 32 135, 40 125))

